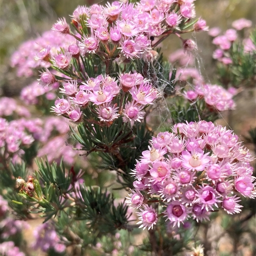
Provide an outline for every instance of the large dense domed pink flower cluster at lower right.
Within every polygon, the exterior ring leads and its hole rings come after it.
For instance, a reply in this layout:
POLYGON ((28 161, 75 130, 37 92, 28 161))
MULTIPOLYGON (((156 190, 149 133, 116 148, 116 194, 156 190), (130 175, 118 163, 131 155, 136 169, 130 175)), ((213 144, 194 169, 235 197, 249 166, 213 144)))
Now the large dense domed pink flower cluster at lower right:
POLYGON ((252 156, 238 137, 206 121, 176 124, 172 131, 152 138, 132 173, 135 190, 126 202, 140 209, 140 227, 157 222, 150 202, 162 204, 173 226, 189 218, 208 219, 218 208, 241 212, 239 196, 254 198, 256 188, 252 156))

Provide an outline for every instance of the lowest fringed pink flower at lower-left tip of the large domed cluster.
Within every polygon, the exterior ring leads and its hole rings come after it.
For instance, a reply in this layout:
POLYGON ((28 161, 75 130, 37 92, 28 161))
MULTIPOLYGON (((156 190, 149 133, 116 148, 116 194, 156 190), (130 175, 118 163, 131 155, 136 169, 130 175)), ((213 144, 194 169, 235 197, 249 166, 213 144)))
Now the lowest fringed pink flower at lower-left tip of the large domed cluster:
POLYGON ((139 222, 137 224, 141 224, 139 228, 150 228, 153 229, 153 226, 157 222, 157 214, 155 209, 152 208, 152 206, 145 206, 145 210, 140 210, 141 212, 138 213, 139 217, 139 222))

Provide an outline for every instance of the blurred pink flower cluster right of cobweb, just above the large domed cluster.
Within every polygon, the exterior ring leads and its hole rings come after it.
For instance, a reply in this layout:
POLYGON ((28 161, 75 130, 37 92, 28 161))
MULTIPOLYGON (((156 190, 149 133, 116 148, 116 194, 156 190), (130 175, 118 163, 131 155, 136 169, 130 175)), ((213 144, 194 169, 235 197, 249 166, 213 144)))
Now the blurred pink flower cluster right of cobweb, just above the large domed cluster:
POLYGON ((184 91, 183 96, 193 102, 204 99, 210 110, 224 111, 228 109, 235 109, 236 104, 234 100, 232 100, 235 93, 236 90, 227 91, 217 84, 202 84, 196 85, 194 90, 184 91))

